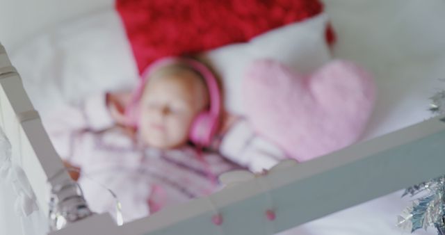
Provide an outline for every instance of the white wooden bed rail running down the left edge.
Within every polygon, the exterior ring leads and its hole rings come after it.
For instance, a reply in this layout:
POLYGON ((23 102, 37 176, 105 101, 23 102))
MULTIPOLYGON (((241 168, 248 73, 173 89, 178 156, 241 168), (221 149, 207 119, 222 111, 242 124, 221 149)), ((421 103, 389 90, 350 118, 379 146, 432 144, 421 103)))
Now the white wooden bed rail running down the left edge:
MULTIPOLYGON (((8 66, 11 63, 0 44, 0 68, 8 66)), ((13 147, 12 160, 26 172, 39 208, 47 213, 49 189, 60 181, 70 179, 69 175, 63 170, 63 163, 51 145, 40 118, 33 117, 24 122, 18 120, 20 114, 34 110, 19 74, 14 70, 3 72, 0 74, 0 85, 0 125, 13 147), (48 181, 56 174, 58 177, 48 181)))

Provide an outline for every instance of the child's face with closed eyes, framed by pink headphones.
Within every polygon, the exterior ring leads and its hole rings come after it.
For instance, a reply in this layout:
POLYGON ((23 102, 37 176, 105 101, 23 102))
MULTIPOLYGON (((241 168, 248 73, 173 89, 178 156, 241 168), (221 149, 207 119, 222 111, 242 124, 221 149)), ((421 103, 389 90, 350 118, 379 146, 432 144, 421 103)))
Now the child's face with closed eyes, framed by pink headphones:
POLYGON ((139 107, 144 143, 161 149, 184 145, 193 120, 207 104, 207 89, 191 71, 149 80, 139 107))

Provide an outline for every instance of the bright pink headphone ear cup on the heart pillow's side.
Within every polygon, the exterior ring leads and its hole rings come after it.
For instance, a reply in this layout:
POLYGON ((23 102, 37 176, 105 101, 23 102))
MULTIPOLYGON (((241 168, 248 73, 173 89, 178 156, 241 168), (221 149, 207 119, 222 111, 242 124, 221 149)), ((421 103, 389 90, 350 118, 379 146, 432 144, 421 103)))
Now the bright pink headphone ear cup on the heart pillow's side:
POLYGON ((216 131, 218 131, 218 117, 204 111, 195 117, 190 129, 190 140, 195 145, 207 147, 210 145, 216 131))

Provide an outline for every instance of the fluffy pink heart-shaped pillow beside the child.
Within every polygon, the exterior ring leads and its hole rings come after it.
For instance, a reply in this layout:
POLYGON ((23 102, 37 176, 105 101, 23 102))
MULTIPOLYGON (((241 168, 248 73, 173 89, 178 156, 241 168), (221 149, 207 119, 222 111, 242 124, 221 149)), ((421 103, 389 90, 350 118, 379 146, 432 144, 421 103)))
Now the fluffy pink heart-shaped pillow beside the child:
POLYGON ((372 77, 342 60, 308 76, 275 60, 257 60, 245 74, 243 90, 253 128, 298 161, 358 140, 375 99, 372 77))

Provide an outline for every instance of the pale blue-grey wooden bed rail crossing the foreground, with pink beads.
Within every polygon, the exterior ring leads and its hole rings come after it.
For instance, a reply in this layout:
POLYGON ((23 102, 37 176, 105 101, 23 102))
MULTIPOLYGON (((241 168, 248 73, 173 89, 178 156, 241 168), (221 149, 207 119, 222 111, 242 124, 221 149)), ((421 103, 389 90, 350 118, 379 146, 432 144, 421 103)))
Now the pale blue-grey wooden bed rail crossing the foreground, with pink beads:
MULTIPOLYGON (((445 172, 440 117, 96 234, 273 234, 445 172), (261 180, 261 183, 259 183, 261 180), (264 211, 274 209, 276 220, 264 211), (223 224, 213 225, 215 213, 223 224)), ((88 221, 54 234, 75 234, 88 221)))

